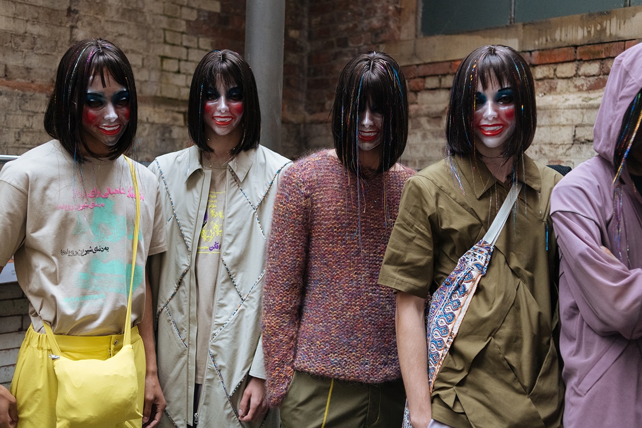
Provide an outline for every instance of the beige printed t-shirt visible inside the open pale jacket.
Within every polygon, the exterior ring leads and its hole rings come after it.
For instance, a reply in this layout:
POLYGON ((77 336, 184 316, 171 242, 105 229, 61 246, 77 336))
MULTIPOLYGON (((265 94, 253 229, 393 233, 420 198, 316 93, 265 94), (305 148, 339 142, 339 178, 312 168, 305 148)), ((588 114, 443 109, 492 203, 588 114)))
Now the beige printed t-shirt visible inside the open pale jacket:
MULTIPOLYGON (((204 169, 210 169, 204 166, 204 169)), ((202 384, 209 358, 212 318, 216 301, 216 278, 221 261, 223 227, 225 226, 225 171, 227 166, 212 167, 198 248, 196 249, 196 383, 202 384)))

